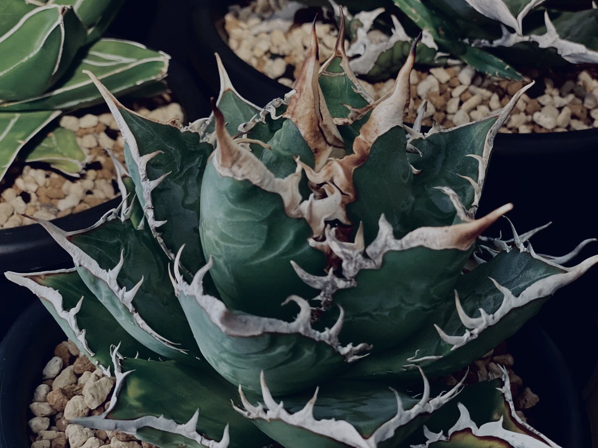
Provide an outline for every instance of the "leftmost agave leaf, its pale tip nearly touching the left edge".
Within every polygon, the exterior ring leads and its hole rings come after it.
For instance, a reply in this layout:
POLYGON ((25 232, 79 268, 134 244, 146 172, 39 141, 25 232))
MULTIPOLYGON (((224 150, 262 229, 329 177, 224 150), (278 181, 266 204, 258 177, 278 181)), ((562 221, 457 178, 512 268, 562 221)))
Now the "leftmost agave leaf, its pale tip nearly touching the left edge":
POLYGON ((111 345, 120 345, 121 352, 127 356, 157 358, 156 353, 124 331, 74 268, 30 274, 7 272, 5 275, 37 294, 66 336, 103 371, 108 372, 112 364, 111 345))

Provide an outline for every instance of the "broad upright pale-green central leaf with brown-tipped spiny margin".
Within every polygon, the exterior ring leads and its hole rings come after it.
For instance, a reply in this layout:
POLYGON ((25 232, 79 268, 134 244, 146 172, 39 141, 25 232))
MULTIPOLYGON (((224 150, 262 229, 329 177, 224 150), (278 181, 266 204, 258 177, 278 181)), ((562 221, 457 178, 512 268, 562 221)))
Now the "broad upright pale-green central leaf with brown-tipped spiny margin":
POLYGON ((313 228, 298 214, 314 212, 306 220, 313 218, 310 224, 322 230, 324 218, 318 218, 320 209, 309 207, 312 202, 300 207, 300 170, 276 178, 228 135, 218 109, 215 116, 218 145, 203 176, 200 201, 203 250, 214 260, 210 274, 232 309, 289 318, 289 307, 280 307, 286 297, 317 294, 294 274, 291 260, 301 260, 313 273, 326 266, 324 255, 307 244, 313 228))

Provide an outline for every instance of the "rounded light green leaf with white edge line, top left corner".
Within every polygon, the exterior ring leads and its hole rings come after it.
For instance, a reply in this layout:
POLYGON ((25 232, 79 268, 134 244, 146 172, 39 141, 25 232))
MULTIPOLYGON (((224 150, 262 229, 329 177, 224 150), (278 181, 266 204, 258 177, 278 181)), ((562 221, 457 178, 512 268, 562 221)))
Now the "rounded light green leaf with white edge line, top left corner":
POLYGON ((0 101, 42 95, 68 69, 85 36, 71 8, 44 5, 24 14, 0 36, 0 101))

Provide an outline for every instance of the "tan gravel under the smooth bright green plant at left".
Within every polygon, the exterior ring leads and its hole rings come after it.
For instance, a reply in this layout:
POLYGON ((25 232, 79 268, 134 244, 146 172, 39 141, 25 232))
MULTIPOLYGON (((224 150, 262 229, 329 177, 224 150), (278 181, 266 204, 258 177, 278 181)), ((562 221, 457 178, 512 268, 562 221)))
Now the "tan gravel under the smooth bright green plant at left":
MULTIPOLYGON (((168 94, 127 107, 152 120, 183 119, 181 106, 171 102, 168 94)), ((13 164, 0 185, 0 229, 33 224, 23 215, 53 220, 118 196, 114 164, 105 150, 124 163, 124 142, 106 106, 64 115, 59 126, 74 132, 86 153, 80 177, 67 176, 43 163, 13 164)))

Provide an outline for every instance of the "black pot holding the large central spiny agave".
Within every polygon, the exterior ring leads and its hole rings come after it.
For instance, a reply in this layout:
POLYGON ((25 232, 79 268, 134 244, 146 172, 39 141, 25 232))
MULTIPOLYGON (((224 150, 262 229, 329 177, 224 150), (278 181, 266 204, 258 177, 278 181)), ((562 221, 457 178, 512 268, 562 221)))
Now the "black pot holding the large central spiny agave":
MULTIPOLYGON (((29 448, 28 406, 54 346, 64 339, 50 313, 36 301, 15 322, 0 344, 0 448, 29 448)), ((587 416, 562 354, 528 322, 508 340, 517 374, 540 403, 528 412, 536 428, 567 448, 590 446, 587 416)))

